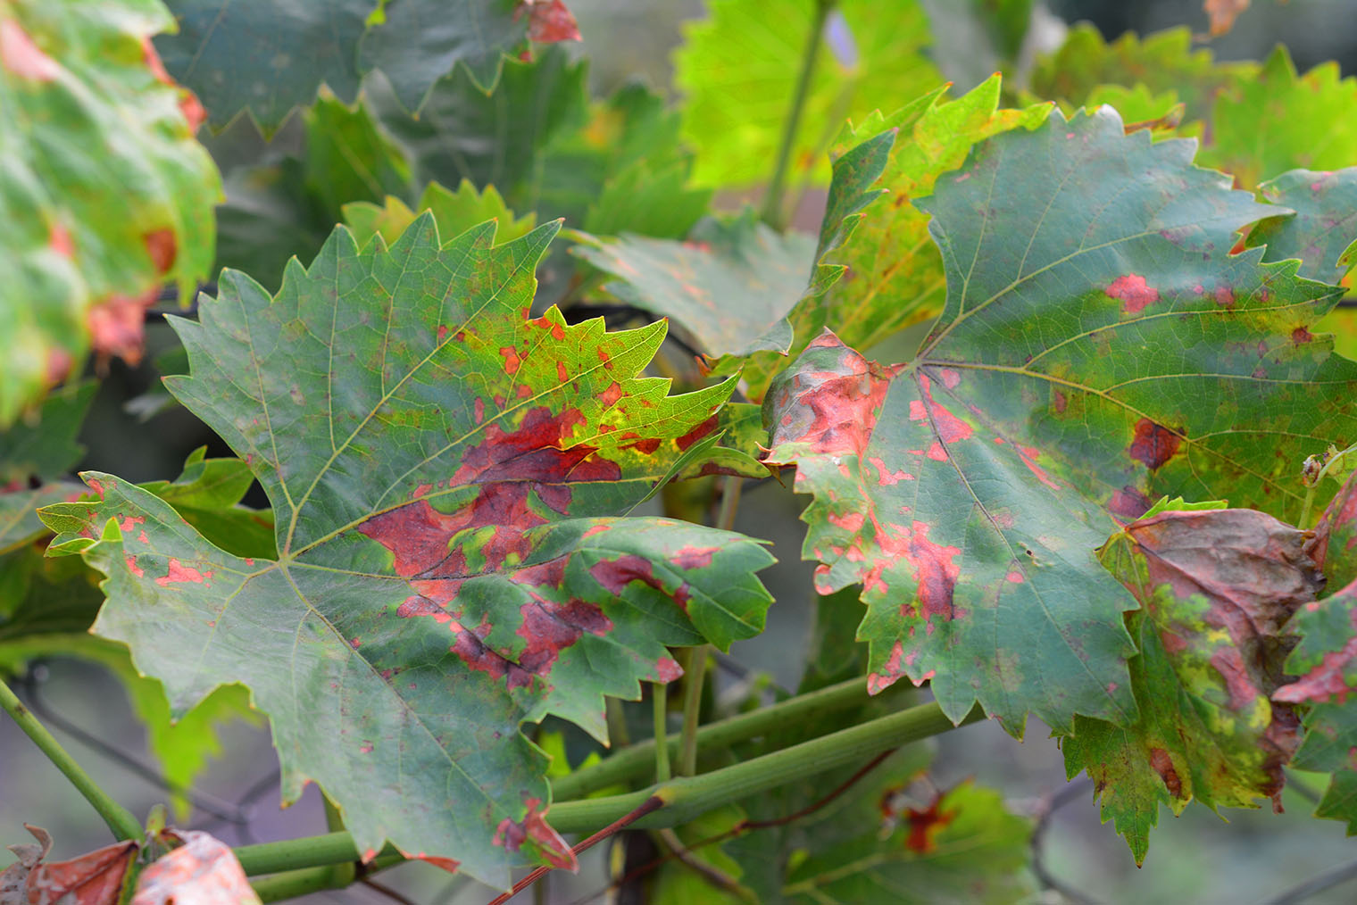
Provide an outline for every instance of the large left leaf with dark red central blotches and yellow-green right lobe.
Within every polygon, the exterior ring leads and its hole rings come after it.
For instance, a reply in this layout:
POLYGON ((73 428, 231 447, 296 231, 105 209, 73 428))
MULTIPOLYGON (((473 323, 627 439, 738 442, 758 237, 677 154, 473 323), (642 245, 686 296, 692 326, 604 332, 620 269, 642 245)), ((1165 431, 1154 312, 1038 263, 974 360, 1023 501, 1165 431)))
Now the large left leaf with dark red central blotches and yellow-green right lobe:
POLYGON ((53 550, 109 577, 95 631, 175 712, 248 685, 285 801, 315 780, 360 851, 389 840, 501 887, 531 856, 573 863, 520 725, 603 741, 603 695, 673 678, 666 644, 756 634, 769 602, 756 541, 615 518, 710 441, 733 381, 666 396, 636 377, 662 323, 529 319, 558 229, 441 246, 426 213, 360 252, 341 227, 275 299, 228 271, 198 323, 174 322, 191 374, 167 384, 263 486, 277 560, 106 475, 85 475, 96 503, 43 513, 53 550))

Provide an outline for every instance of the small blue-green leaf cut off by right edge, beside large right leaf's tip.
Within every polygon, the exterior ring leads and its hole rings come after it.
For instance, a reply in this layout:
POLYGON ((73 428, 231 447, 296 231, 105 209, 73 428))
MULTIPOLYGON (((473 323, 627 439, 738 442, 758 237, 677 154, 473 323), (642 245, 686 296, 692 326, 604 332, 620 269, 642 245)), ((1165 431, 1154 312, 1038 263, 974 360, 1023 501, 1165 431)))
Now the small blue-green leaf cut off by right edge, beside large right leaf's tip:
POLYGON ((1291 170, 1258 186, 1267 201, 1295 210, 1248 231, 1250 246, 1267 246, 1263 261, 1300 258, 1300 275, 1338 285, 1341 261, 1357 239, 1357 167, 1333 172, 1291 170))

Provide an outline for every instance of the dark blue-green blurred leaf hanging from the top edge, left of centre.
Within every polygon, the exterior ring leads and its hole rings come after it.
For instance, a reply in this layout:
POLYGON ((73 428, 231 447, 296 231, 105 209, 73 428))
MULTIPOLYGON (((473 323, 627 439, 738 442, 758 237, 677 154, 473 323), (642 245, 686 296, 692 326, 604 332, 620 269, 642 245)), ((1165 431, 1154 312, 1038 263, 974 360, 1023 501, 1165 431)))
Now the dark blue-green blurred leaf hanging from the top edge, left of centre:
MULTIPOLYGON (((364 75, 380 69, 400 103, 418 111, 430 87, 465 68, 484 94, 505 53, 527 45, 533 16, 513 0, 299 0, 232 4, 168 0, 179 33, 156 47, 170 72, 198 92, 221 129, 248 110, 273 134, 322 84, 353 103, 364 75), (463 64, 459 66, 457 64, 463 64)), ((539 33, 533 41, 566 34, 539 33)), ((578 33, 573 35, 578 39, 578 33)))

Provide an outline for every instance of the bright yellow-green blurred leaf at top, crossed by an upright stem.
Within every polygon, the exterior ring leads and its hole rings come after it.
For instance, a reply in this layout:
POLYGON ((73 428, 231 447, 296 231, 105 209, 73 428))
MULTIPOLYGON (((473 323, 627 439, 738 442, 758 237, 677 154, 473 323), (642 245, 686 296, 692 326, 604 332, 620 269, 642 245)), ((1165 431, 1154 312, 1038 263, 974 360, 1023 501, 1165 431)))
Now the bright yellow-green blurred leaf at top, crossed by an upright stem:
MULTIPOLYGON (((814 0, 794 0, 768 15, 757 3, 721 0, 708 4, 708 19, 684 28, 674 84, 687 95, 684 137, 697 151, 699 185, 750 186, 772 175, 816 8, 814 0)), ((829 182, 824 151, 845 118, 943 80, 924 54, 928 22, 912 0, 835 4, 821 42, 791 145, 790 185, 829 182)))

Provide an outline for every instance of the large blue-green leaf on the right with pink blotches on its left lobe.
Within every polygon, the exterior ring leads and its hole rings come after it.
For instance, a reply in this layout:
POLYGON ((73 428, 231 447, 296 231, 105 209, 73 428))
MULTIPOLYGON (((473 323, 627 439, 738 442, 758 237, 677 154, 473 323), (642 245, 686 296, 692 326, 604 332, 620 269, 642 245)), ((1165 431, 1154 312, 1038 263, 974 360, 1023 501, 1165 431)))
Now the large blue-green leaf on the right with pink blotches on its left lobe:
POLYGON ((873 689, 931 678, 953 719, 978 700, 1014 733, 1132 720, 1107 510, 1228 490, 1284 517, 1288 463, 1357 434, 1357 365, 1307 330, 1335 293, 1229 255, 1274 209, 1190 153, 1107 107, 989 138, 919 202, 949 294, 915 360, 826 332, 773 383, 768 463, 816 495, 817 589, 864 586, 873 689))

